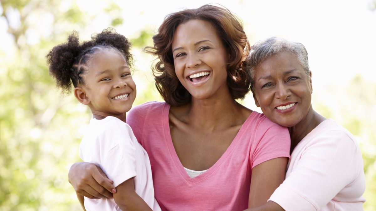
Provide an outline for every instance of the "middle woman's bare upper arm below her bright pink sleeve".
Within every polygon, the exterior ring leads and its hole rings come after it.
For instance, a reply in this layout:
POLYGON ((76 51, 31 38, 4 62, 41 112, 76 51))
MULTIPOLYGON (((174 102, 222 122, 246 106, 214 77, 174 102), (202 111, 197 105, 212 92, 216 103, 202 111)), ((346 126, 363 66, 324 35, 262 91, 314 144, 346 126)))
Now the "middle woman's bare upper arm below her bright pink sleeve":
POLYGON ((252 169, 248 207, 264 205, 276 188, 285 180, 287 157, 258 164, 252 169))

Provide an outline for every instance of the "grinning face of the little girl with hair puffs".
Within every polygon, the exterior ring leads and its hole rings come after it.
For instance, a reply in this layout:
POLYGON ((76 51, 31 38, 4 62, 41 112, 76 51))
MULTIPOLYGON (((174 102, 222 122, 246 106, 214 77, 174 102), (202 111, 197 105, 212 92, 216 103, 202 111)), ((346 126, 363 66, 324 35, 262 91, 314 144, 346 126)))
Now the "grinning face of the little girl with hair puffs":
POLYGON ((93 113, 124 115, 136 98, 136 84, 124 56, 113 49, 100 50, 84 75, 86 102, 93 113))

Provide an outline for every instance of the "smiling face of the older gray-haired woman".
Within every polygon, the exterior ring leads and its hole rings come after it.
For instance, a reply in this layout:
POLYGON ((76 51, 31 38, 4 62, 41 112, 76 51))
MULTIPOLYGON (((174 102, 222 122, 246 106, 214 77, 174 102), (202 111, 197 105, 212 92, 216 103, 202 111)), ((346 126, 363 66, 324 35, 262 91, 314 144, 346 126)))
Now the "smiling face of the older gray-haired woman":
POLYGON ((267 57, 253 79, 255 103, 271 121, 292 127, 311 109, 312 81, 293 53, 267 57))

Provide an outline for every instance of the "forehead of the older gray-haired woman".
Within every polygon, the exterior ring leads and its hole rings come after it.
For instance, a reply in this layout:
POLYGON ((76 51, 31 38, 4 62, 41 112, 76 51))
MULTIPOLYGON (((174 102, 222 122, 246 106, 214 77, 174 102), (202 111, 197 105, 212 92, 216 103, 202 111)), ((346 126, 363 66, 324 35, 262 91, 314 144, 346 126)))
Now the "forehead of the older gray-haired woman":
POLYGON ((257 77, 264 77, 264 75, 283 74, 293 69, 304 71, 295 54, 289 51, 282 51, 268 56, 255 67, 255 79, 257 77))

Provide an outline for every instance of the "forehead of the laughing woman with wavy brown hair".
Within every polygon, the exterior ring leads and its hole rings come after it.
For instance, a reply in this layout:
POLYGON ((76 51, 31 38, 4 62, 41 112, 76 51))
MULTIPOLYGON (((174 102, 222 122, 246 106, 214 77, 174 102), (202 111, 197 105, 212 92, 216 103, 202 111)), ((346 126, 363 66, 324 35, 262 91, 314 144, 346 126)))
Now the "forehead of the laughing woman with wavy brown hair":
POLYGON ((202 40, 218 42, 220 38, 217 30, 209 21, 190 20, 177 26, 172 46, 174 48, 180 47, 180 45, 193 45, 202 40))

